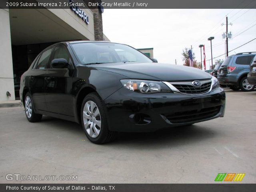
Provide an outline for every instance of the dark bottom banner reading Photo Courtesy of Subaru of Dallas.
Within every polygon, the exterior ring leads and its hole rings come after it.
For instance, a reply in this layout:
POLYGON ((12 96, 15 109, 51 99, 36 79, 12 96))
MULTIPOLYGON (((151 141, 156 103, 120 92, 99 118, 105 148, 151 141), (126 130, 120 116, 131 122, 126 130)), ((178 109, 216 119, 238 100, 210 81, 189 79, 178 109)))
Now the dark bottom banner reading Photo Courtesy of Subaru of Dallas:
POLYGON ((0 192, 253 192, 256 184, 0 184, 0 192))

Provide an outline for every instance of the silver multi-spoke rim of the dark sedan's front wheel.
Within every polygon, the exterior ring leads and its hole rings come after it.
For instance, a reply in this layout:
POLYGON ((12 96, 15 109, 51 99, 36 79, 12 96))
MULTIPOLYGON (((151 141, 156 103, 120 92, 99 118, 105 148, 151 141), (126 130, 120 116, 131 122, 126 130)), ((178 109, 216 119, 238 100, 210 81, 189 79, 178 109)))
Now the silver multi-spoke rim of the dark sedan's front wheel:
POLYGON ((87 101, 83 110, 84 128, 92 138, 98 137, 101 130, 100 111, 96 103, 87 101))

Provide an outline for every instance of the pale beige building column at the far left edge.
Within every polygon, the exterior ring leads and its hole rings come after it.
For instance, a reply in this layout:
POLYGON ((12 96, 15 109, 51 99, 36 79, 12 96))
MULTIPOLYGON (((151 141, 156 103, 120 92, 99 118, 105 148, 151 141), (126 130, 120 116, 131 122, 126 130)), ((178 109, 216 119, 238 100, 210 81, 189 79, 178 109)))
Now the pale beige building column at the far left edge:
POLYGON ((15 100, 9 10, 0 9, 0 102, 15 100), (11 96, 7 96, 6 92, 11 96))

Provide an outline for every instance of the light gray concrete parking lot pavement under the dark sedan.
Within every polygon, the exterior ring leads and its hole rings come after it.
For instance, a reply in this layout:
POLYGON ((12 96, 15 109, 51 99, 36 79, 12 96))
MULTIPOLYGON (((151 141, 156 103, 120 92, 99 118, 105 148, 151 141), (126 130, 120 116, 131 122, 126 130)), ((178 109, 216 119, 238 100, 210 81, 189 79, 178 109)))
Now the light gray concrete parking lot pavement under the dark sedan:
POLYGON ((256 183, 256 91, 225 90, 224 118, 120 133, 104 145, 90 143, 74 122, 44 116, 30 123, 23 108, 0 108, 0 183, 214 183, 218 173, 245 173, 242 183, 256 183))

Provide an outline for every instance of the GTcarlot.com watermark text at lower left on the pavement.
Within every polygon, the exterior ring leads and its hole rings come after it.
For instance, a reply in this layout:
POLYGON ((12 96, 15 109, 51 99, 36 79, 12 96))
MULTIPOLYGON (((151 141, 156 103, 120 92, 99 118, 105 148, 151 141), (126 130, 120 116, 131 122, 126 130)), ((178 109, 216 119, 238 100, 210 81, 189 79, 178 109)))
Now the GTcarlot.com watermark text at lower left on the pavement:
POLYGON ((77 181, 78 176, 74 175, 46 175, 46 176, 41 176, 41 175, 21 175, 19 173, 9 173, 5 176, 6 180, 8 181, 77 181))

